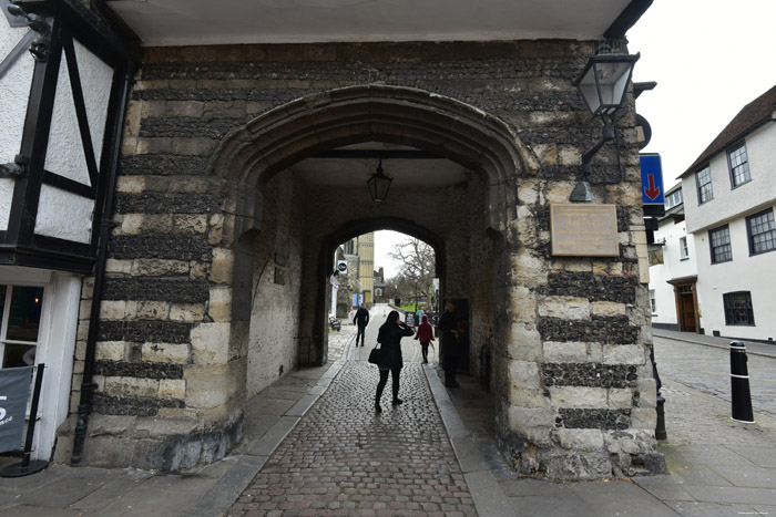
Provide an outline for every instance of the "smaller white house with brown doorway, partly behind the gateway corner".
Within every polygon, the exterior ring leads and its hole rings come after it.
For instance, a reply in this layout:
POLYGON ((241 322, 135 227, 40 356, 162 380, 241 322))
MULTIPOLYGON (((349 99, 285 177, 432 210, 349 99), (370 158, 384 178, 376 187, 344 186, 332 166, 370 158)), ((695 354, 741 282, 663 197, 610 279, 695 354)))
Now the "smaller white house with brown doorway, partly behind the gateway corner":
POLYGON ((682 184, 665 194, 665 217, 650 245, 652 324, 658 329, 697 331, 695 244, 687 236, 682 184))

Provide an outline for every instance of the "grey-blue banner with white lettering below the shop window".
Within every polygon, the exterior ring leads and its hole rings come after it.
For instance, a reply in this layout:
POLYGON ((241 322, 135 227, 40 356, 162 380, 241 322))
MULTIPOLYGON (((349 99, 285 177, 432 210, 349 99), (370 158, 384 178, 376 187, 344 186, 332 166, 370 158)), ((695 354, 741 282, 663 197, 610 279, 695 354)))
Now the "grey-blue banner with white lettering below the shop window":
POLYGON ((21 448, 31 381, 32 366, 0 370, 0 453, 21 448))

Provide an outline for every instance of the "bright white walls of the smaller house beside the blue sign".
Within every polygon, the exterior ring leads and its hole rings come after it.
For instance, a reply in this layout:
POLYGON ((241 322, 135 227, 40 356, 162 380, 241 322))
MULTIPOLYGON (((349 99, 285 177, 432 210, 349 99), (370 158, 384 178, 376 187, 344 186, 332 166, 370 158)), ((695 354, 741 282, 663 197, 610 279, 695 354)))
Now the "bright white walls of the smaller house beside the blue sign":
POLYGON ((686 221, 674 224, 668 219, 655 231, 655 242, 663 241, 663 263, 650 266, 650 289, 655 291, 656 312, 652 314, 653 323, 676 324, 676 299, 674 287, 668 280, 690 277, 697 273, 695 265, 695 242, 687 236, 686 221), (680 239, 687 237, 687 259, 682 260, 680 239))

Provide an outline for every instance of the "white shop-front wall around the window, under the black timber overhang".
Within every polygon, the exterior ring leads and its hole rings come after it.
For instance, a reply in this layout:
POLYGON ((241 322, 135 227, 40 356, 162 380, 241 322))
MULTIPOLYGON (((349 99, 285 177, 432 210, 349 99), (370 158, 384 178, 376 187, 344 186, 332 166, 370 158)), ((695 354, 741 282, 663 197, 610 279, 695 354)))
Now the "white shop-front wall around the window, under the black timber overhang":
POLYGON ((69 411, 81 278, 67 272, 7 266, 0 268, 0 283, 43 287, 35 364, 45 364, 45 370, 32 457, 48 461, 55 444, 57 428, 69 411))

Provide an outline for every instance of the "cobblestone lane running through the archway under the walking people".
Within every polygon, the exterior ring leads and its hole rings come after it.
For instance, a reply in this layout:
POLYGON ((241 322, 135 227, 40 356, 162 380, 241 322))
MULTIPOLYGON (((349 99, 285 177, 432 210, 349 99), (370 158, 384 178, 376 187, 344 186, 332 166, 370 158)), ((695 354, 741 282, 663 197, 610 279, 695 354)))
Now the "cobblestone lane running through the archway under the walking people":
POLYGON ((351 360, 227 515, 477 515, 411 338, 402 341, 405 403, 390 404, 389 381, 375 413, 378 370, 365 359, 384 312, 372 311, 363 348, 347 322, 333 333, 331 359, 351 360))

